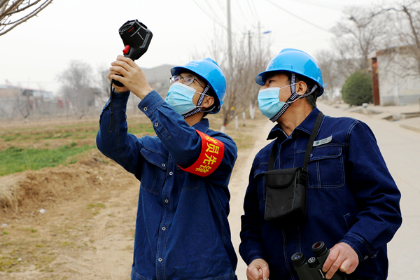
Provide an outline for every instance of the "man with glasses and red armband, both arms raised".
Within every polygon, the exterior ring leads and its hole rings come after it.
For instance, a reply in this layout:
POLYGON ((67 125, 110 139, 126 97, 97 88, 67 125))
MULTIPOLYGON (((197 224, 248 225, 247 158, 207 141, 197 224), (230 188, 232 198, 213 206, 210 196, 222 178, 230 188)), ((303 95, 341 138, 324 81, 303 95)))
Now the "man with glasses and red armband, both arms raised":
POLYGON ((114 83, 113 102, 100 117, 99 150, 141 182, 131 279, 234 280, 228 183, 237 147, 203 118, 221 109, 226 79, 210 58, 171 73, 165 101, 132 59, 118 56, 109 80, 123 87, 114 83), (127 132, 130 92, 141 99, 139 110, 150 118, 156 136, 127 132))

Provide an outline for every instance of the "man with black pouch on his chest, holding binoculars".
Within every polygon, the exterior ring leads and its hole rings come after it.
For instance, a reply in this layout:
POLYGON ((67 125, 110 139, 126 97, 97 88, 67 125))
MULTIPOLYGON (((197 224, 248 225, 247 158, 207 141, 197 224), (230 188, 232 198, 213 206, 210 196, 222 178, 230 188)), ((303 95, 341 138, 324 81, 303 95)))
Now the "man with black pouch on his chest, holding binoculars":
POLYGON ((301 50, 282 50, 255 82, 261 113, 276 126, 255 155, 241 216, 248 279, 386 279, 400 192, 372 131, 323 116, 321 70, 301 50), (318 241, 330 249, 323 263, 311 258, 318 241))

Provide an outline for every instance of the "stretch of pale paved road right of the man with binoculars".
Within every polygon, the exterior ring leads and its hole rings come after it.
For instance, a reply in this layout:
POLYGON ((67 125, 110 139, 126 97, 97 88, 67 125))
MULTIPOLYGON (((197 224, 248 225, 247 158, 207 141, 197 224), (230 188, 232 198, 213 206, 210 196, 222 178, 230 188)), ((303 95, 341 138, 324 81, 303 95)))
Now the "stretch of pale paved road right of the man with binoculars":
POLYGON ((375 119, 319 104, 330 116, 350 116, 370 126, 386 165, 402 194, 402 226, 388 244, 388 279, 419 279, 420 265, 420 133, 398 122, 375 119))

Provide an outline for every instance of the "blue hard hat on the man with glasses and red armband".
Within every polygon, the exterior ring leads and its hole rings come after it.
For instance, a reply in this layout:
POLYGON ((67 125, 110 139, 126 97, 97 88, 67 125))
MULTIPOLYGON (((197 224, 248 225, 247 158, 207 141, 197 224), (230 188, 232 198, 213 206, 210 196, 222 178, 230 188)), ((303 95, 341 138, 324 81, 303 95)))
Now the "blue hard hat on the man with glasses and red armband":
POLYGON ((172 76, 178 75, 182 71, 191 71, 210 85, 211 90, 216 93, 214 110, 209 113, 217 113, 221 110, 223 99, 226 93, 226 78, 221 67, 211 58, 193 60, 184 66, 178 66, 171 69, 172 76))

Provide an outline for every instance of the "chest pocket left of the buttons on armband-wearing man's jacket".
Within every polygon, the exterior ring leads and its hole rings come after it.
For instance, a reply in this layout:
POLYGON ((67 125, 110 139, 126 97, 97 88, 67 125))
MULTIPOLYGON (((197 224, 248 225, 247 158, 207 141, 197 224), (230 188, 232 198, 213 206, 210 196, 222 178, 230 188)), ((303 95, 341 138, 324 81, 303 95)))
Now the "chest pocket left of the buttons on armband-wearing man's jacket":
POLYGON ((168 159, 158 151, 148 148, 142 148, 140 153, 146 160, 141 172, 140 188, 159 195, 160 188, 165 183, 168 159))

